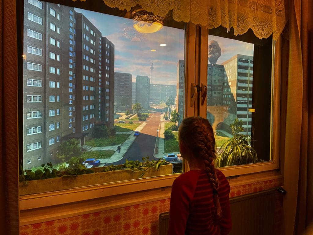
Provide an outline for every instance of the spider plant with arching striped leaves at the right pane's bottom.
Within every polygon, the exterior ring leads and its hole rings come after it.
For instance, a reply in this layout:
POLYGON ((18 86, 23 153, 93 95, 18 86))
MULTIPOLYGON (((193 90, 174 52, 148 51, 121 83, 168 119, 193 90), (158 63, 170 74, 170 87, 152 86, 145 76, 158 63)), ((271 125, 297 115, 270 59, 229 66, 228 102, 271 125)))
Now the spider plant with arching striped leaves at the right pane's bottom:
POLYGON ((243 165, 258 162, 258 156, 249 142, 249 135, 236 134, 221 145, 222 153, 215 159, 216 167, 243 165))

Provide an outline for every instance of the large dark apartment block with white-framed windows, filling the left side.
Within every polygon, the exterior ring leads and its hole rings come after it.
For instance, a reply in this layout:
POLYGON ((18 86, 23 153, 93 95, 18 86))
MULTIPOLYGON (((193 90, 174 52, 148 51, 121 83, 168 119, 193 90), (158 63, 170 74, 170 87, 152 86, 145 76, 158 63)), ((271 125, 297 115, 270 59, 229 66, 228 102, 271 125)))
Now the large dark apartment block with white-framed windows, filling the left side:
MULTIPOLYGON (((26 169, 54 161, 62 140, 77 138, 84 144, 95 123, 106 118, 98 109, 109 109, 110 102, 105 106, 97 97, 103 87, 102 71, 97 69, 102 60, 100 31, 71 7, 37 0, 24 1, 24 7, 26 169)), ((107 66, 114 74, 114 59, 107 66)))

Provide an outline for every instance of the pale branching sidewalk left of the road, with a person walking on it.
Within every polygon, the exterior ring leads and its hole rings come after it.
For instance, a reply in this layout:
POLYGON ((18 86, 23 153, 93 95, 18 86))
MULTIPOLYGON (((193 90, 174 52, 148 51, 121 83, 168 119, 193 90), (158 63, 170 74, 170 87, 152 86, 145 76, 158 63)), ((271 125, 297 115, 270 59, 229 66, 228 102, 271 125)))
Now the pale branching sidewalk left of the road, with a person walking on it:
POLYGON ((105 146, 105 147, 93 147, 89 151, 99 151, 99 150, 112 150, 114 149, 114 154, 110 158, 105 158, 105 159, 98 159, 100 160, 100 165, 99 166, 104 166, 104 165, 110 165, 111 163, 117 162, 121 159, 123 159, 124 154, 127 152, 131 144, 135 141, 136 137, 134 136, 135 131, 141 132, 141 130, 146 126, 146 122, 142 123, 139 127, 137 127, 134 131, 128 131, 128 132, 116 132, 116 134, 130 134, 128 139, 121 144, 121 151, 118 153, 117 152, 117 146, 105 146))

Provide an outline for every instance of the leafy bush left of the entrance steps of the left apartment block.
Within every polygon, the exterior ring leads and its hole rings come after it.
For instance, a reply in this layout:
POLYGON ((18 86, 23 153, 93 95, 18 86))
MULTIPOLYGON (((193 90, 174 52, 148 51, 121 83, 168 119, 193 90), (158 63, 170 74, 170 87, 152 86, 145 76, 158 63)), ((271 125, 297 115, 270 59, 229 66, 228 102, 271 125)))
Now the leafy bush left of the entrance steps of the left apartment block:
POLYGON ((62 142, 59 146, 57 158, 62 161, 68 161, 71 157, 79 157, 82 154, 79 144, 80 141, 74 138, 62 142))

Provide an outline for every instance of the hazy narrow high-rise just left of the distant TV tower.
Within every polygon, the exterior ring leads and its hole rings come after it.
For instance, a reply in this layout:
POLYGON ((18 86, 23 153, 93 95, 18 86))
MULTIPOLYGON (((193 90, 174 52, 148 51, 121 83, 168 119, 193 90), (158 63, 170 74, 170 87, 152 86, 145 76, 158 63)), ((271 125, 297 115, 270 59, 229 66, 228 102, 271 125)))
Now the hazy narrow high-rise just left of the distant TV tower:
POLYGON ((147 76, 136 76, 136 103, 141 107, 149 108, 150 79, 147 76))

